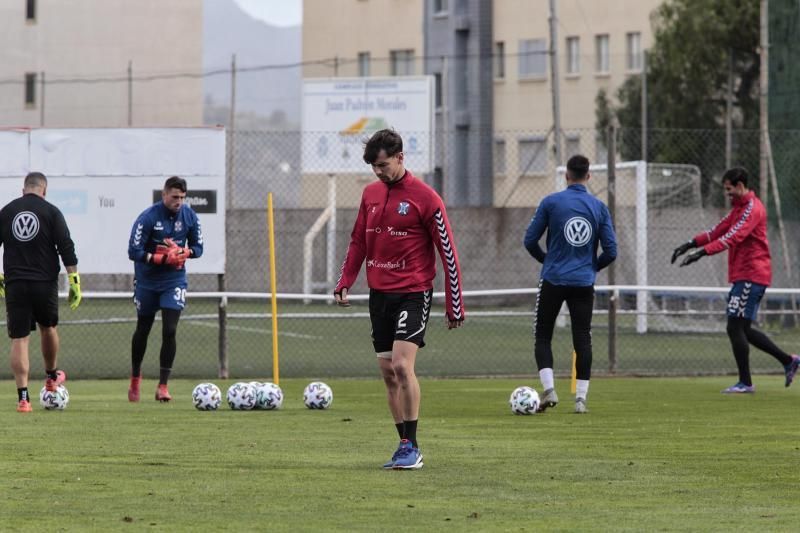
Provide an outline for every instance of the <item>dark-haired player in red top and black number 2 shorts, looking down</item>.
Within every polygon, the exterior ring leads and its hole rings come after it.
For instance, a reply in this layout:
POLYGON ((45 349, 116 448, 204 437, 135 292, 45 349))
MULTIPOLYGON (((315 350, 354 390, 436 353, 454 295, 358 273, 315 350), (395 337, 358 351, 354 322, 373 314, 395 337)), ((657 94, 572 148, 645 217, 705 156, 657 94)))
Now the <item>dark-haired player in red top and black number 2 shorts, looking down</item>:
POLYGON ((417 469, 420 390, 414 363, 425 345, 438 250, 445 280, 448 329, 464 322, 461 268, 441 197, 403 165, 403 140, 394 130, 376 132, 364 161, 378 181, 364 188, 350 246, 333 291, 349 306, 348 290, 367 263, 372 344, 400 445, 384 468, 417 469))

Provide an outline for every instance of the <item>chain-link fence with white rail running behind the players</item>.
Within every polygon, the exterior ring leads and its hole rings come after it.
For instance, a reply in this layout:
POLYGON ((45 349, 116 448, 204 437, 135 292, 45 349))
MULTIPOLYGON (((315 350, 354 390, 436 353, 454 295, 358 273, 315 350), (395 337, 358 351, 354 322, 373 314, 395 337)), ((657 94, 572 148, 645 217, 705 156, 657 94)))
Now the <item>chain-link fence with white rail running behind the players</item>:
MULTIPOLYGON (((411 132, 400 133, 407 137, 411 132)), ((460 162, 448 159, 451 152, 439 149, 456 142, 455 135, 437 134, 434 170, 420 176, 442 191, 443 183, 460 179, 454 171, 461 168, 460 162)), ((618 160, 631 159, 626 154, 641 152, 640 131, 623 129, 617 135, 618 160)), ((776 137, 794 135, 789 132, 776 137)), ((441 300, 435 303, 426 336, 428 345, 419 357, 421 375, 535 371, 533 288, 538 283, 540 265, 524 250, 522 239, 537 204, 563 187, 553 139, 552 132, 547 131, 486 133, 484 142, 492 146, 494 167, 490 177, 492 203, 454 205, 443 192, 467 291, 467 321, 464 328, 448 331, 441 300)), ((720 183, 725 166, 757 168, 756 132, 734 132, 733 149, 727 158, 730 163, 726 161, 724 139, 724 132, 716 130, 648 131, 650 162, 618 165, 613 189, 620 253, 614 268, 615 284, 624 287, 613 293, 618 297, 619 310, 613 336, 609 335, 607 312, 612 293, 605 288, 597 291, 593 336, 596 373, 613 370, 690 375, 735 370, 724 331, 725 254, 704 258, 687 268, 669 263, 675 246, 711 227, 726 212, 720 183), (642 286, 650 288, 643 290, 642 286)), ((229 134, 226 273, 222 278, 190 273, 190 299, 178 333, 176 376, 216 375, 220 354, 226 358, 231 377, 271 374, 269 193, 275 206, 277 292, 282 295, 278 300, 281 375, 375 375, 366 302, 357 300, 352 308, 343 310, 330 305, 328 297, 349 243, 361 190, 375 178, 366 164, 360 173, 304 172, 308 159, 320 156, 314 151, 304 152, 301 141, 301 133, 296 131, 229 134), (191 292, 214 292, 222 287, 237 294, 225 299, 214 295, 191 297, 191 292), (312 299, 312 293, 321 299, 312 299)), ((564 159, 583 153, 593 162, 606 161, 607 140, 594 130, 565 132, 562 142, 564 159)), ((788 144, 775 145, 777 159, 788 144)), ((360 153, 354 157, 360 157, 360 153)), ((312 166, 319 163, 315 161, 312 166)), ((414 168, 409 170, 414 172, 414 168)), ((589 181, 591 192, 604 201, 609 201, 609 179, 607 169, 596 167, 589 181)), ((753 181, 755 186, 755 176, 753 181)), ((785 185, 779 192, 784 198, 797 194, 785 185)), ((771 193, 772 198, 774 191, 771 193)), ((770 225, 774 287, 796 285, 798 246, 791 237, 800 228, 795 211, 785 213, 782 232, 774 217, 770 225)), ((441 279, 440 275, 435 281, 437 291, 442 290, 441 279)), ((608 271, 600 273, 597 284, 608 285, 608 271)), ((131 289, 132 276, 86 275, 84 286, 86 291, 124 293, 131 289)), ((363 272, 352 293, 356 297, 367 293, 363 272)), ((62 311, 61 363, 75 377, 127 375, 135 310, 124 295, 120 296, 88 297, 77 311, 66 307, 62 311)), ((800 341, 791 311, 792 297, 771 291, 760 314, 760 326, 787 351, 793 351, 800 341)), ((560 373, 568 373, 571 363, 568 323, 565 318, 554 339, 556 371, 560 373)), ((157 323, 150 339, 146 373, 157 372, 159 327, 157 323)), ((34 373, 41 370, 37 337, 34 335, 31 345, 34 373)), ((755 372, 781 370, 772 358, 755 351, 752 366, 755 372)), ((8 369, 2 368, 0 376, 9 377, 8 369)))

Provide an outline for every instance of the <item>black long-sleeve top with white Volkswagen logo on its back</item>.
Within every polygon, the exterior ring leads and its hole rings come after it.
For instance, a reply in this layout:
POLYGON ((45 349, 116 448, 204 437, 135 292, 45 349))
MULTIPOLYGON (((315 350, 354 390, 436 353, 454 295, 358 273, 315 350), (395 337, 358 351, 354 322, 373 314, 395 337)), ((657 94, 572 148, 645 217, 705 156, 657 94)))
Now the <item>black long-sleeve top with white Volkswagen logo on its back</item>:
POLYGON ((54 281, 61 267, 75 266, 75 244, 61 211, 33 193, 11 201, 0 210, 3 275, 15 280, 54 281))

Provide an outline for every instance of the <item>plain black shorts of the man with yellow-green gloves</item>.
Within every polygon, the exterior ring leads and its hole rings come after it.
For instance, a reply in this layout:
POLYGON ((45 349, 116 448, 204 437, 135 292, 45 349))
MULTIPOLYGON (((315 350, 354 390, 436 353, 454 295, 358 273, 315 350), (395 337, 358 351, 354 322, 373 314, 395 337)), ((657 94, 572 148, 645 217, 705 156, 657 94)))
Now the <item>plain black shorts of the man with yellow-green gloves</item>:
POLYGON ((36 329, 58 325, 58 281, 6 282, 8 336, 22 339, 36 329))

